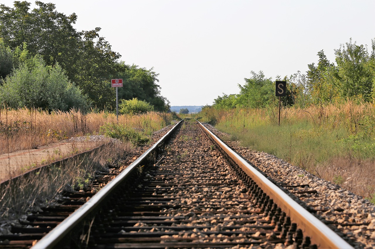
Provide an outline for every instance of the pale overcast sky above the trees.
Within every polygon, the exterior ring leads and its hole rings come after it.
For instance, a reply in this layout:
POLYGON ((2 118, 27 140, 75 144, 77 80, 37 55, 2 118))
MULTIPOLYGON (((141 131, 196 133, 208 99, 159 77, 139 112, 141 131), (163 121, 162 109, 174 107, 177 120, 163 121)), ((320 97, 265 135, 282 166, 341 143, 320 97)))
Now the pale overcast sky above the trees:
POLYGON ((101 27, 126 64, 153 67, 171 105, 212 104, 238 93, 251 71, 305 73, 318 51, 334 62, 350 37, 369 49, 375 38, 374 0, 41 1, 76 13, 78 31, 101 27))

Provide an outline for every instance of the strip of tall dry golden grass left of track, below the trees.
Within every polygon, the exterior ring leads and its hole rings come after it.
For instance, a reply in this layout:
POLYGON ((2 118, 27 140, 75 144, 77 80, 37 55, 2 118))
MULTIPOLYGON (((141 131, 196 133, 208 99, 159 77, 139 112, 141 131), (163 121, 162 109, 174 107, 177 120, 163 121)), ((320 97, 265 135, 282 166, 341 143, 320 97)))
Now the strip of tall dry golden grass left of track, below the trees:
MULTIPOLYGON (((146 134, 170 124, 172 115, 149 112, 120 115, 118 123, 146 134)), ((117 123, 116 115, 105 111, 82 113, 79 110, 48 113, 43 110, 0 108, 0 154, 27 150, 62 139, 99 134, 101 126, 117 123)))

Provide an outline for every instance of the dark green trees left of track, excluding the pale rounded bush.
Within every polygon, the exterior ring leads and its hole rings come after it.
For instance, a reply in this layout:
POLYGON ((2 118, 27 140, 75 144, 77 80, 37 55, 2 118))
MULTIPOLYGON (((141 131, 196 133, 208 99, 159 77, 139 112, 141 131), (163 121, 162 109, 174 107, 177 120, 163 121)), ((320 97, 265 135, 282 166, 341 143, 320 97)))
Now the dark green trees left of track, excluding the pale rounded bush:
POLYGON ((0 4, 0 38, 14 51, 15 68, 25 56, 40 55, 47 66, 59 64, 96 108, 113 109, 115 93, 110 80, 124 79, 124 87, 118 89, 120 99, 138 98, 157 111, 169 109, 153 68, 118 62, 120 54, 99 35, 101 28, 81 32, 73 28, 75 13, 64 15, 55 10, 55 4, 41 1, 36 6, 30 11, 27 1, 15 1, 13 7, 0 4), (22 50, 25 44, 28 50, 22 50))

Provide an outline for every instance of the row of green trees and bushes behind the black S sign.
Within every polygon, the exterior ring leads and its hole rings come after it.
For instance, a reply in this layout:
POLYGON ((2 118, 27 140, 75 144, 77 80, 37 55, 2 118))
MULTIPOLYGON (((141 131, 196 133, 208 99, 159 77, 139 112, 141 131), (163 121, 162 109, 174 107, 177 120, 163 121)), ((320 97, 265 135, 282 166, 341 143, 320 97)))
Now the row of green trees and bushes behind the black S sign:
MULTIPOLYGON (((371 53, 367 46, 357 45, 350 39, 349 42, 341 44, 339 49, 335 49, 335 55, 336 64, 328 61, 321 50, 318 52, 318 64, 309 64, 306 74, 298 71, 289 77, 276 76, 276 80, 287 82, 287 96, 281 98, 283 105, 306 107, 311 104, 323 105, 347 100, 374 102, 375 39, 372 40, 371 53)), ((251 74, 249 79, 245 78, 244 85, 238 84, 239 94, 223 93, 223 96, 214 99, 212 107, 231 109, 278 105, 275 81, 267 78, 262 71, 252 71, 251 74)))

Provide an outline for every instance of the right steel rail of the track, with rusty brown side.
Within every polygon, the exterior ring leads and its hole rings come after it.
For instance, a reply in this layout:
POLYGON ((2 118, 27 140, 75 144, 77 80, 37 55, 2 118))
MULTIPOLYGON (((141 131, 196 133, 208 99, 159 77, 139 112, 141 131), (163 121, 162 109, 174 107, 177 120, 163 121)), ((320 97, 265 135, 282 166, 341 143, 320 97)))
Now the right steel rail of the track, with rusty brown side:
POLYGON ((246 160, 234 152, 228 145, 224 144, 216 135, 198 122, 202 129, 210 136, 231 159, 237 163, 266 193, 273 202, 281 207, 298 227, 303 231, 304 236, 309 236, 311 242, 320 248, 353 248, 338 234, 332 231, 326 224, 300 206, 288 194, 273 184, 266 176, 251 166, 246 160))

